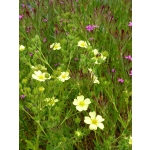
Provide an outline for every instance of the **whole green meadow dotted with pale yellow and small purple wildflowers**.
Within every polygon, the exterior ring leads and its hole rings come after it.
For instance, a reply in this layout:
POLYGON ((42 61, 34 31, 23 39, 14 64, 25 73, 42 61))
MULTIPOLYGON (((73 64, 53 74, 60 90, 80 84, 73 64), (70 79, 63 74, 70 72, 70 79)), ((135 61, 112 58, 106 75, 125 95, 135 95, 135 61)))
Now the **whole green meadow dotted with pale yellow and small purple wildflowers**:
POLYGON ((131 149, 131 6, 20 2, 20 149, 131 149))

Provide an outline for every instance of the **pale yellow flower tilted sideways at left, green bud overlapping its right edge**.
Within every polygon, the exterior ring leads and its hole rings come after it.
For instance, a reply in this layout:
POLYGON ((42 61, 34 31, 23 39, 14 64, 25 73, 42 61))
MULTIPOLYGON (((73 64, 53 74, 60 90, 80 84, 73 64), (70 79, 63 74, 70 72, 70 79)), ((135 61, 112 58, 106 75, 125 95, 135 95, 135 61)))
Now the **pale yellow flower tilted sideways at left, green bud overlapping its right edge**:
POLYGON ((45 81, 46 79, 50 79, 51 76, 49 75, 49 78, 45 77, 46 73, 42 73, 40 70, 34 71, 34 74, 32 74, 32 78, 38 81, 45 81))

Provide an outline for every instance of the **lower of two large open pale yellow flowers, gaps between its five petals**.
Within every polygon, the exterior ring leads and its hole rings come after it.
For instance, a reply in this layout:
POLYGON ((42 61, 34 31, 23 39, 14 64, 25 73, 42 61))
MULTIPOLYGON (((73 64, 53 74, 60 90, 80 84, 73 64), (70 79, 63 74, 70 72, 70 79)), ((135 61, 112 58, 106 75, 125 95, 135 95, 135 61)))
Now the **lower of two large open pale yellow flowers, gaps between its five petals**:
POLYGON ((100 129, 104 129, 104 125, 103 125, 103 121, 104 119, 102 118, 102 116, 100 115, 97 115, 96 116, 96 112, 93 111, 93 112, 90 112, 89 113, 90 117, 84 117, 84 122, 86 124, 89 124, 89 128, 90 130, 97 130, 97 127, 99 127, 100 129))

